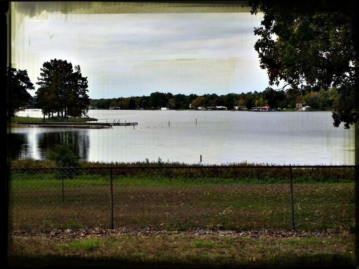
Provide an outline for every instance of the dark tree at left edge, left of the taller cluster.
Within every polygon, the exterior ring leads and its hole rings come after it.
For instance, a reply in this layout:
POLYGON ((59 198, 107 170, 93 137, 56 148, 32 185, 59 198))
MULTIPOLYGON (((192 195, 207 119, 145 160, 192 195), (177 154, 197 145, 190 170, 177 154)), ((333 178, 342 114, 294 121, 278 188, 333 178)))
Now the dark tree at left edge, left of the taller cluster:
POLYGON ((6 70, 6 90, 7 90, 7 112, 9 116, 14 116, 22 110, 32 97, 27 90, 33 90, 33 84, 27 76, 26 70, 16 70, 8 67, 6 70))

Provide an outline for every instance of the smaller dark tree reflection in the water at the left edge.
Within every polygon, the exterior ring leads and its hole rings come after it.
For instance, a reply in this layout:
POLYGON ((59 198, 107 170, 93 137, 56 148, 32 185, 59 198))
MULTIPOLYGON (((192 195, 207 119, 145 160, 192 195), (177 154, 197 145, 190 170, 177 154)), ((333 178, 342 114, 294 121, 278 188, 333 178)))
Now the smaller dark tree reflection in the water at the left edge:
POLYGON ((27 142, 27 134, 24 133, 10 133, 9 141, 9 157, 14 159, 22 159, 31 157, 30 146, 27 142))

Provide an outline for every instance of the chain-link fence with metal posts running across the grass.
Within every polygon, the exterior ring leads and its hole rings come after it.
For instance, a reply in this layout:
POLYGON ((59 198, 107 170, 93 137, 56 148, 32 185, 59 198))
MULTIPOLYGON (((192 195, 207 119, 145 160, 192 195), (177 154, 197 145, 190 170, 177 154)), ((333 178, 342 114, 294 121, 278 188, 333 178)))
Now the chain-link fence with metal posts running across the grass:
POLYGON ((11 169, 11 229, 354 229, 355 166, 11 169))

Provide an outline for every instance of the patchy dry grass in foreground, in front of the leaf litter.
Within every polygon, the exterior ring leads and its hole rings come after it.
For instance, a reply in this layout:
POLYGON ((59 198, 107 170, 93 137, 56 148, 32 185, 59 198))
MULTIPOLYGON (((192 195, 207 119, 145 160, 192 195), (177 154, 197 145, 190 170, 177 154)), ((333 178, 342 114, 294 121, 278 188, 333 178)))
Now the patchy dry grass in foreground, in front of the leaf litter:
POLYGON ((353 266, 355 236, 277 238, 155 234, 58 239, 13 236, 9 266, 123 267, 353 266))

